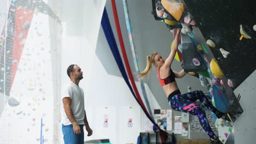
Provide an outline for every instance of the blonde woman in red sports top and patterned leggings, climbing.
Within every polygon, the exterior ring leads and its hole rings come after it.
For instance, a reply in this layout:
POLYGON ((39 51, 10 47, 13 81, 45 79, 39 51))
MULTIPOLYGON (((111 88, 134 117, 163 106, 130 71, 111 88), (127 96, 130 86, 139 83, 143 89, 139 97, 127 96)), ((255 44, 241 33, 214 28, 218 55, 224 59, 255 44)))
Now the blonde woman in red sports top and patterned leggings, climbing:
POLYGON ((205 111, 195 104, 195 101, 199 99, 203 105, 216 114, 218 118, 222 117, 225 113, 218 111, 211 102, 206 98, 202 91, 193 91, 185 94, 181 94, 175 78, 182 78, 185 76, 185 71, 182 70, 179 73, 172 71, 171 64, 173 62, 175 53, 178 47, 178 37, 181 29, 177 29, 176 37, 173 42, 172 50, 166 61, 158 52, 152 53, 147 57, 147 67, 141 73, 138 73, 140 77, 149 76, 152 64, 158 69, 158 79, 164 89, 164 92, 168 98, 168 103, 173 110, 190 113, 191 115, 197 116, 202 128, 210 136, 211 143, 222 143, 219 141, 210 124, 206 118, 205 111), (164 79, 163 79, 164 78, 164 79))

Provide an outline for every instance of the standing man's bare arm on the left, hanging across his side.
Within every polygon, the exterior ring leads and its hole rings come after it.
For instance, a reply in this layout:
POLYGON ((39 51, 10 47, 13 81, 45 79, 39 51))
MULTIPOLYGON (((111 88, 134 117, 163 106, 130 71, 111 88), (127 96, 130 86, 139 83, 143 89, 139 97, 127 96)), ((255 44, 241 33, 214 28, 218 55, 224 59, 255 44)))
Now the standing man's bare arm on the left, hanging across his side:
POLYGON ((81 133, 80 127, 77 124, 77 121, 75 121, 73 112, 71 110, 71 98, 65 97, 65 98, 62 99, 62 102, 63 102, 65 113, 66 113, 69 121, 73 124, 74 133, 75 134, 80 134, 81 133))

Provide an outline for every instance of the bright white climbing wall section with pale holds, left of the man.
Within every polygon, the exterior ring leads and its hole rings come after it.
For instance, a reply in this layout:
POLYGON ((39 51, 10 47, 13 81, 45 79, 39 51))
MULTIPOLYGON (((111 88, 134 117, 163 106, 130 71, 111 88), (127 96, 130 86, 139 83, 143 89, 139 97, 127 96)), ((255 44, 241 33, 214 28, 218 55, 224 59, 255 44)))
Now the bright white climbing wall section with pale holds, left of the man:
POLYGON ((20 104, 8 105, 9 97, 4 101, 5 108, 0 117, 1 144, 39 143, 41 118, 44 143, 53 143, 54 78, 48 20, 47 15, 40 13, 35 14, 31 22, 10 91, 10 97, 20 104))

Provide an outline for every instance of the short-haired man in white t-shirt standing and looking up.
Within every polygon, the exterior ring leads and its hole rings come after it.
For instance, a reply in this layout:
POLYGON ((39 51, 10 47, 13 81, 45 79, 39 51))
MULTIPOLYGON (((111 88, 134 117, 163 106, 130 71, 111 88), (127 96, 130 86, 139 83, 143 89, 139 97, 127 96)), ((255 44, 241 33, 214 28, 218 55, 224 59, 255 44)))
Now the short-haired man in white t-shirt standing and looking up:
POLYGON ((67 75, 71 81, 62 94, 61 120, 63 139, 65 144, 83 144, 84 125, 88 136, 92 135, 84 110, 84 92, 78 85, 80 80, 83 79, 83 71, 78 65, 71 64, 67 68, 67 75))

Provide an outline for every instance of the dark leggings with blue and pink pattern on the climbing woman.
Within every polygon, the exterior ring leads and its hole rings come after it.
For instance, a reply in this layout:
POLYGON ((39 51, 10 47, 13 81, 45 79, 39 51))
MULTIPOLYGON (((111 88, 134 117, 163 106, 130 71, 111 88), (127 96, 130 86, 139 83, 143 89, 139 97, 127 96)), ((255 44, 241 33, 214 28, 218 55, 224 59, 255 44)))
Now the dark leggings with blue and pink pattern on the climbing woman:
POLYGON ((202 91, 193 91, 185 94, 176 94, 169 100, 169 105, 173 110, 190 113, 191 115, 197 116, 202 128, 212 138, 216 139, 216 135, 213 133, 210 124, 206 118, 205 111, 197 106, 194 102, 199 99, 203 105, 205 105, 211 111, 217 109, 211 104, 206 98, 202 91))

